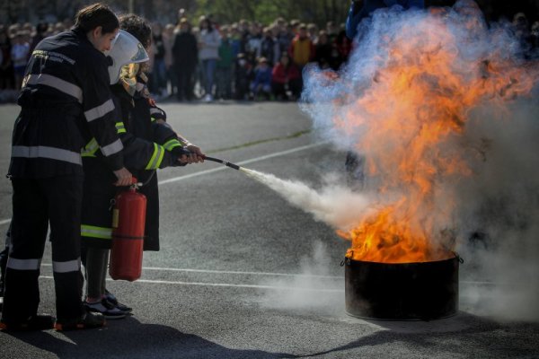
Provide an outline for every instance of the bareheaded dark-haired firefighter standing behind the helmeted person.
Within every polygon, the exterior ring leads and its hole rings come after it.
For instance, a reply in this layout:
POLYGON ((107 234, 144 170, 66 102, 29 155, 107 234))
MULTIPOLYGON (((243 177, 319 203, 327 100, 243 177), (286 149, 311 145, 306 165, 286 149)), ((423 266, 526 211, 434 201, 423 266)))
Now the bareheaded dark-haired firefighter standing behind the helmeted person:
POLYGON ((112 183, 127 185, 114 127, 114 102, 103 51, 119 20, 104 4, 80 10, 71 31, 43 39, 31 54, 18 99, 8 176, 13 185, 11 245, 5 274, 4 330, 98 328, 101 315, 84 310, 80 273, 83 200, 81 148, 93 136, 112 183), (37 314, 39 276, 48 227, 57 320, 37 314))

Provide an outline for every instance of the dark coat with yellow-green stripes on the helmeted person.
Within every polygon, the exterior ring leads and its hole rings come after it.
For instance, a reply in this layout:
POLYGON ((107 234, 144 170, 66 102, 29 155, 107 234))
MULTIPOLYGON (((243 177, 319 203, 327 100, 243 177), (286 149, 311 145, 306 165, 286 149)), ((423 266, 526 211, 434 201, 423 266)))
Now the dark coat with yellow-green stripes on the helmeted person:
MULTIPOLYGON (((144 250, 159 250, 159 195, 155 171, 178 165, 183 145, 168 124, 157 123, 166 118, 162 109, 152 105, 139 92, 131 97, 121 85, 111 86, 117 108, 116 127, 124 144, 126 167, 145 185, 140 192, 146 196, 146 230, 144 250), (147 182, 147 183, 146 183, 147 182)), ((83 244, 90 247, 110 248, 112 238, 111 202, 118 192, 112 186, 113 178, 107 177, 102 156, 93 155, 92 144, 83 153, 84 179, 83 221, 81 234, 83 244)), ((121 189, 120 189, 121 190, 121 189)))

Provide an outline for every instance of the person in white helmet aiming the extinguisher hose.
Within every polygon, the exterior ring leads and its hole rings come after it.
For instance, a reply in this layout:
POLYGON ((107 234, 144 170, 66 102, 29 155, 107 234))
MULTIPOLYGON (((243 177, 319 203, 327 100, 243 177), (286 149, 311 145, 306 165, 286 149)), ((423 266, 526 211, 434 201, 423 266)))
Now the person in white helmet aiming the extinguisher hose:
MULTIPOLYGON (((166 122, 162 109, 148 96, 145 48, 150 48, 151 27, 143 18, 129 14, 120 17, 116 46, 108 53, 111 91, 115 103, 116 128, 124 144, 124 158, 129 171, 144 183, 140 192, 146 196, 144 250, 159 250, 159 197, 155 171, 167 166, 204 161, 198 146, 179 136, 166 122), (121 51, 120 51, 121 49, 121 51)), ((108 319, 120 319, 131 311, 106 290, 105 277, 112 239, 111 200, 117 190, 106 179, 102 156, 89 143, 83 152, 84 180, 83 222, 81 234, 85 251, 87 293, 84 306, 108 319)), ((120 214, 121 215, 121 214, 120 214)))

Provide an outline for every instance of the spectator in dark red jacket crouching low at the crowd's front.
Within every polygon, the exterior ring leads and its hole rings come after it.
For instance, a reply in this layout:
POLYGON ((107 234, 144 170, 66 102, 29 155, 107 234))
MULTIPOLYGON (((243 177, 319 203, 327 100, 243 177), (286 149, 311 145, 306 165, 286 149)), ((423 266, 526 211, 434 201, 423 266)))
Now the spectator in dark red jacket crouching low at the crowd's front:
POLYGON ((278 100, 296 99, 301 93, 301 74, 287 53, 282 54, 279 62, 273 66, 271 73, 271 90, 278 100))

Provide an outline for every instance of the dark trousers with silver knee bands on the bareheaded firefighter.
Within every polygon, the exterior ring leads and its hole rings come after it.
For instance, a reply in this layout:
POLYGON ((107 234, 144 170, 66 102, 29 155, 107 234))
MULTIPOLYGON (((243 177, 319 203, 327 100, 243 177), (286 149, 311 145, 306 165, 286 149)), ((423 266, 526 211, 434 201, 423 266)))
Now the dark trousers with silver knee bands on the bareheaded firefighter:
POLYGON ((37 314, 40 264, 50 226, 58 320, 83 313, 80 270, 83 176, 12 179, 11 249, 5 274, 4 322, 37 314))

